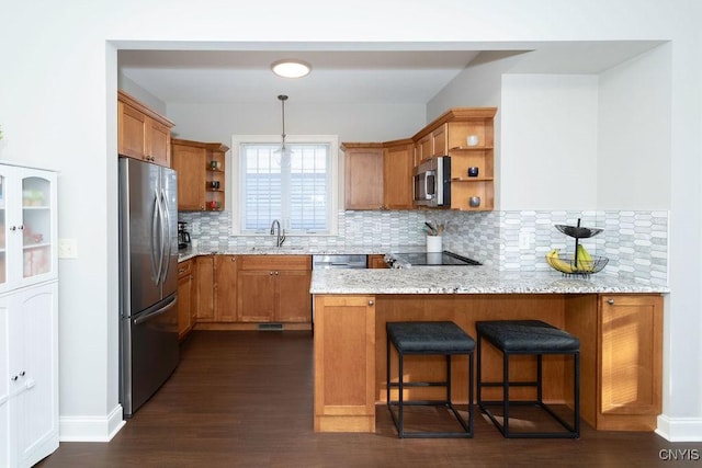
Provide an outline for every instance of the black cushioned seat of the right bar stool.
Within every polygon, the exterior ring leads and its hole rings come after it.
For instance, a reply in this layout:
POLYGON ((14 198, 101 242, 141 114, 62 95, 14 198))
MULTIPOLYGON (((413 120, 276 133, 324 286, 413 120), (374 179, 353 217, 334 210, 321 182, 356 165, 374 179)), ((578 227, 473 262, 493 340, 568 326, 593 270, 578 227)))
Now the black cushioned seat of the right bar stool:
POLYGON ((580 340, 541 320, 476 322, 475 329, 500 350, 510 353, 573 353, 580 340))

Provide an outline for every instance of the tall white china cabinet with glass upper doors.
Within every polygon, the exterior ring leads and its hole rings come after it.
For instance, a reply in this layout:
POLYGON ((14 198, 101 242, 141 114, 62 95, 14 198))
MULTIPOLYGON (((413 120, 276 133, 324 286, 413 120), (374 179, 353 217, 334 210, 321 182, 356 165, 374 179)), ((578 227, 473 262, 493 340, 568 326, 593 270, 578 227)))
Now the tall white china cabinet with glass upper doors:
POLYGON ((58 448, 55 172, 0 163, 0 466, 58 448))

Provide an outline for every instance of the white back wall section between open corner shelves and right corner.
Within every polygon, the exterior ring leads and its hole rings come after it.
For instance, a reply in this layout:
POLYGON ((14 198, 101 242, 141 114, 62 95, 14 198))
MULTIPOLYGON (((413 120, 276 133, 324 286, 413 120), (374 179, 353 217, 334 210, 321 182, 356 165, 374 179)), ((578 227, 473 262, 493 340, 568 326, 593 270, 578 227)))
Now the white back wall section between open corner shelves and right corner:
POLYGON ((502 76, 502 210, 597 209, 596 76, 502 76))

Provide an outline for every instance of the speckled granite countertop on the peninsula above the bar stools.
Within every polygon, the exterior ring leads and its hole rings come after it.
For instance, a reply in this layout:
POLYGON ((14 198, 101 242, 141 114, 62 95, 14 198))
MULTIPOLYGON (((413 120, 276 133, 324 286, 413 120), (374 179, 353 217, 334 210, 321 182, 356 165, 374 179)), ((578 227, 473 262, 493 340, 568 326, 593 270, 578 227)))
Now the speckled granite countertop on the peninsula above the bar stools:
POLYGON ((489 266, 316 270, 312 294, 599 294, 669 293, 613 275, 566 277, 556 271, 503 272, 489 266))

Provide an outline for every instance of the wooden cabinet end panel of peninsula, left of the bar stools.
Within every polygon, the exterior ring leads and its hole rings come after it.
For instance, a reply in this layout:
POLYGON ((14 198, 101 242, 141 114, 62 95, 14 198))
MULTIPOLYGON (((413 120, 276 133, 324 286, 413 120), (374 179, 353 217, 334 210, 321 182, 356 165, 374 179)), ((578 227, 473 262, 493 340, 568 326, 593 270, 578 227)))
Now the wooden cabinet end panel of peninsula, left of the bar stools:
POLYGON ((315 297, 315 431, 375 432, 375 298, 315 297))

